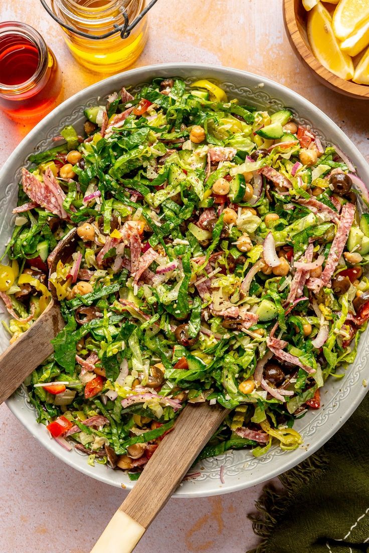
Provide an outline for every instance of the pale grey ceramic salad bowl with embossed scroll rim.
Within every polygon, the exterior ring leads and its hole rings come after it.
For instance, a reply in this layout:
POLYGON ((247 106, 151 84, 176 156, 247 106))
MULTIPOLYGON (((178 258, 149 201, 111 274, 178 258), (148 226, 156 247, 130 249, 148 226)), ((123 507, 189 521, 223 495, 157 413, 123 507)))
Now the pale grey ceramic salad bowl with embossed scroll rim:
MULTIPOLYGON (((354 144, 329 117, 292 90, 263 77, 226 67, 195 64, 140 67, 98 82, 72 96, 46 116, 15 149, 0 173, 1 249, 11 236, 14 220, 12 208, 17 202, 17 182, 20 180, 22 166, 24 164, 27 166, 28 155, 34 151, 39 152, 50 148, 51 138, 58 135, 60 129, 66 124, 72 124, 77 129, 81 129, 84 121, 83 109, 86 106, 96 105, 97 97, 105 99, 110 92, 119 90, 123 85, 137 90, 143 83, 158 76, 178 76, 186 82, 204 78, 215 80, 225 88, 230 97, 242 98, 245 103, 272 110, 280 109, 283 106, 292 108, 298 120, 303 124, 309 124, 323 144, 340 145, 342 150, 354 161, 358 175, 369 183, 369 166, 354 144)), ((102 100, 99 102, 102 103, 102 100)), ((6 317, 6 315, 2 315, 2 317, 6 317)), ((8 340, 8 335, 1 327, 1 350, 8 346, 8 340)), ((254 458, 250 451, 241 450, 230 451, 219 457, 206 459, 201 461, 199 467, 196 467, 196 471, 199 470, 201 476, 181 484, 174 495, 176 497, 200 497, 233 492, 264 482, 303 461, 334 435, 365 396, 366 388, 363 386, 363 380, 369 380, 368 354, 368 332, 365 332, 360 340, 356 361, 347 369, 344 378, 330 378, 326 383, 323 389, 321 408, 317 411, 310 410, 303 419, 295 423, 295 428, 301 432, 304 439, 304 444, 297 450, 283 451, 274 446, 266 456, 261 458, 254 458), (222 465, 225 467, 224 484, 220 482, 222 465)), ((122 471, 112 471, 102 465, 90 467, 87 465, 85 455, 77 451, 67 452, 54 440, 51 440, 45 426, 37 424, 34 410, 27 403, 27 398, 21 390, 18 390, 7 404, 33 436, 68 465, 113 486, 120 487, 122 483, 127 488, 133 486, 128 476, 122 471)))

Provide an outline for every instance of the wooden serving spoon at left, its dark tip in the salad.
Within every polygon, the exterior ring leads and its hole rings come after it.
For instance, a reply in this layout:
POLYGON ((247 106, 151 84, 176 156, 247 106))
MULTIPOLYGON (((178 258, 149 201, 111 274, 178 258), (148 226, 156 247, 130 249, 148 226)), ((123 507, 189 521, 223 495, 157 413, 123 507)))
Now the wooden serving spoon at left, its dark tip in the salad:
MULTIPOLYGON (((72 228, 50 253, 49 274, 59 260, 66 261, 75 250, 77 228, 72 228)), ((51 300, 39 318, 0 356, 0 405, 23 380, 47 359, 54 348, 50 343, 65 326, 54 286, 49 281, 51 300)))

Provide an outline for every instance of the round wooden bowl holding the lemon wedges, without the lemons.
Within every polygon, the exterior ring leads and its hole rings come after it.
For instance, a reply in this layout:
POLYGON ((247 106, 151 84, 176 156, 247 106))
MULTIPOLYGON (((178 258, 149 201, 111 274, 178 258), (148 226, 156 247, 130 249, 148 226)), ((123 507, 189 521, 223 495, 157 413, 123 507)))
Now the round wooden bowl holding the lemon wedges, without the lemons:
POLYGON ((305 11, 301 0, 283 0, 284 26, 290 44, 297 56, 302 59, 323 85, 351 98, 369 100, 368 85, 358 85, 356 82, 345 81, 341 77, 337 77, 337 75, 325 69, 320 61, 315 58, 306 32, 307 16, 308 12, 305 11))

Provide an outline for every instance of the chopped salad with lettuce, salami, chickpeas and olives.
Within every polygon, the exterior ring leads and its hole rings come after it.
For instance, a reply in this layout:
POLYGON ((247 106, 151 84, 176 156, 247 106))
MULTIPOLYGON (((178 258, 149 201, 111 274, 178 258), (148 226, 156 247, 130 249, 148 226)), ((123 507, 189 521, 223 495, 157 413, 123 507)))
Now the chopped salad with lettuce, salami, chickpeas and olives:
POLYGON ((11 342, 48 305, 48 279, 66 323, 24 383, 37 420, 132 479, 186 403, 230 410, 199 459, 299 447, 295 419, 320 408, 369 319, 355 167, 290 109, 207 80, 123 87, 85 116, 82 135, 67 126, 29 157, 0 267, 11 342), (75 252, 49 274, 73 227, 75 252))

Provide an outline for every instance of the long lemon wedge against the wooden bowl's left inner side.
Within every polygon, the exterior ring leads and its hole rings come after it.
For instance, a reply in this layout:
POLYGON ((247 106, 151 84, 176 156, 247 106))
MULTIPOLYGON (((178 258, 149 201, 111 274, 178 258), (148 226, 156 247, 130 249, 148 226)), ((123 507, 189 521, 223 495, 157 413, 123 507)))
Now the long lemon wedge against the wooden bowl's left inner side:
POLYGON ((340 50, 332 29, 332 18, 323 4, 317 4, 308 15, 308 38, 321 65, 346 81, 352 79, 354 64, 350 56, 340 50))

